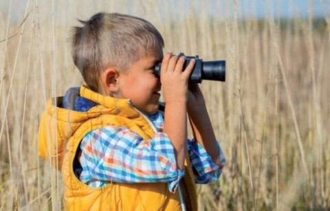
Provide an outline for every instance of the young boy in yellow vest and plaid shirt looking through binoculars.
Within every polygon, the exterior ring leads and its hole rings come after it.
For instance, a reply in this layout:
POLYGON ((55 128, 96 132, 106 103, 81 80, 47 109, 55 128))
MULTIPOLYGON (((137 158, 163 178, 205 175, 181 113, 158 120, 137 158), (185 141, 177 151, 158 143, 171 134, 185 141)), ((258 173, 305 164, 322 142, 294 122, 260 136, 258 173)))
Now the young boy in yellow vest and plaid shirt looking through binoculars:
POLYGON ((163 58, 162 36, 137 17, 81 23, 72 56, 87 85, 49 100, 39 129, 39 154, 63 173, 65 209, 197 210, 195 182, 217 180, 225 159, 203 95, 188 84, 195 61, 183 69, 184 57, 163 58))

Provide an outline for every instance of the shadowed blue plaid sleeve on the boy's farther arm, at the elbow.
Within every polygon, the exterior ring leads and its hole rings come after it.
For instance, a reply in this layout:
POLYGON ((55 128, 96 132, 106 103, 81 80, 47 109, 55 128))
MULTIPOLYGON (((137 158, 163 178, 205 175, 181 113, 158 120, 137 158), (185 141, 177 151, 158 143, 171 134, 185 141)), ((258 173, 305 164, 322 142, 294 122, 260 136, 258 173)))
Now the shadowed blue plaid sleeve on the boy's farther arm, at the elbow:
POLYGON ((195 139, 188 140, 190 166, 197 184, 207 184, 219 179, 223 166, 225 166, 225 157, 219 142, 217 142, 217 147, 219 151, 219 165, 214 164, 210 155, 195 139))

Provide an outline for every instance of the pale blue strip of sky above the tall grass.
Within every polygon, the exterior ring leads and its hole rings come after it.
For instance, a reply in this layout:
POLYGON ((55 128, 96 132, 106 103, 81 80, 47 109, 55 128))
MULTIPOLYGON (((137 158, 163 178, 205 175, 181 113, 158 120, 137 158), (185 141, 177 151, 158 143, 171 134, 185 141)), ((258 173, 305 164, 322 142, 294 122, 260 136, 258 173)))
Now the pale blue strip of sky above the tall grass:
MULTIPOLYGON (((28 0, 10 0, 12 1, 12 18, 14 22, 21 21, 23 17, 21 14, 24 13, 25 5, 28 0)), ((9 0, 0 0, 0 15, 7 16, 9 8, 9 0)), ((42 1, 42 0, 39 0, 42 1)), ((88 1, 85 0, 85 5, 90 5, 92 8, 98 2, 104 1, 88 1), (87 3, 86 3, 87 2, 87 3)), ((162 7, 162 2, 164 0, 126 0, 127 5, 136 5, 137 2, 147 3, 149 1, 157 2, 155 5, 162 7), (135 3, 135 4, 134 4, 135 3)), ((263 19, 273 14, 275 18, 305 18, 309 16, 311 11, 313 16, 320 17, 329 17, 330 16, 330 0, 166 0, 169 5, 172 5, 173 8, 177 8, 178 5, 184 3, 184 9, 179 11, 184 13, 187 11, 199 12, 200 6, 209 7, 211 11, 210 15, 218 16, 219 12, 223 14, 228 14, 232 16, 234 14, 234 3, 239 2, 240 8, 239 17, 241 18, 258 18, 263 19), (231 3, 230 3, 231 2, 231 3), (219 7, 219 5, 221 5, 219 7), (217 11, 216 8, 223 8, 224 11, 217 11)), ((65 5, 70 5, 70 0, 54 0, 54 4, 58 2, 66 2, 65 5)), ((52 1, 50 1, 50 4, 52 1)), ((63 3, 62 3, 63 4, 63 3)), ((138 5, 138 4, 137 4, 138 5)), ((67 8, 67 10, 72 10, 72 8, 67 8)), ((74 9, 76 10, 76 9, 74 9)), ((133 8, 131 8, 133 10, 133 8)))

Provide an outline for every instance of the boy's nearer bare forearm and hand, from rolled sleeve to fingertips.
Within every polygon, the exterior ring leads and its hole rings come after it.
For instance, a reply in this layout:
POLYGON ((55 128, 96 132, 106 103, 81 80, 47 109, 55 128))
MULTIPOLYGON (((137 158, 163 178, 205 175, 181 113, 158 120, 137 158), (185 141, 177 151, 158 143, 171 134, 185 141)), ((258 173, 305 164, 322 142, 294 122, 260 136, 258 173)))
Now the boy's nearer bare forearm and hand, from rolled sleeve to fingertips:
POLYGON ((184 56, 178 58, 172 53, 167 53, 162 61, 160 71, 160 82, 166 100, 163 132, 168 134, 173 144, 179 170, 184 170, 186 157, 188 79, 195 65, 195 60, 190 60, 188 67, 182 71, 185 59, 184 56))

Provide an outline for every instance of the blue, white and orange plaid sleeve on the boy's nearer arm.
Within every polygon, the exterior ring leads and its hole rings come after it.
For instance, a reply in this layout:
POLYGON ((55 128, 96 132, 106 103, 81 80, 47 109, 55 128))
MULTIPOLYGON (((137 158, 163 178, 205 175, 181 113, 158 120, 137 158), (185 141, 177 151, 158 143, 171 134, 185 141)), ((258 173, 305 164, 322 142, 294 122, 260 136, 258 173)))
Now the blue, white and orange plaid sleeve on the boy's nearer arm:
POLYGON ((143 140, 129 129, 107 126, 87 133, 80 148, 80 180, 89 186, 100 187, 111 181, 168 182, 170 192, 175 192, 184 176, 166 133, 143 140))

